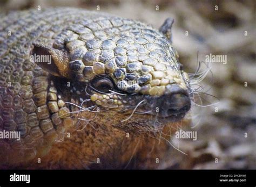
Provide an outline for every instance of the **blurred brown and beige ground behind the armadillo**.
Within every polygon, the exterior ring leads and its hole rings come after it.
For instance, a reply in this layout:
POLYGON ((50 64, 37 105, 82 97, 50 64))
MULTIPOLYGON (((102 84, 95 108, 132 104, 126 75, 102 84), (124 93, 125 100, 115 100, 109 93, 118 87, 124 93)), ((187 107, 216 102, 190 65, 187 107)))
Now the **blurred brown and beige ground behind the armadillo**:
POLYGON ((255 0, 1 0, 0 11, 38 5, 98 8, 156 28, 166 18, 174 18, 173 46, 188 73, 197 70, 205 55, 226 55, 227 63, 211 63, 211 72, 199 83, 203 89, 194 85, 202 103, 198 95, 194 102, 210 106, 194 105, 192 123, 183 128, 196 131, 196 141, 172 138, 186 154, 173 149, 170 169, 256 169, 255 4, 255 0))

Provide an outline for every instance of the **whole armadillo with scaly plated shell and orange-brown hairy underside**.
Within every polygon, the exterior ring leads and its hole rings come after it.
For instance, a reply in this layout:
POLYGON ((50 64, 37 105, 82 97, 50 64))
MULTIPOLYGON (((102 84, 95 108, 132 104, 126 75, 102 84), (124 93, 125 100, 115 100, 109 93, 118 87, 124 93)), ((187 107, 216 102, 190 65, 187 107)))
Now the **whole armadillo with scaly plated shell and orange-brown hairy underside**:
POLYGON ((191 105, 171 19, 158 31, 104 13, 49 9, 1 23, 0 130, 21 131, 22 140, 0 140, 0 166, 169 167, 168 140, 191 105))

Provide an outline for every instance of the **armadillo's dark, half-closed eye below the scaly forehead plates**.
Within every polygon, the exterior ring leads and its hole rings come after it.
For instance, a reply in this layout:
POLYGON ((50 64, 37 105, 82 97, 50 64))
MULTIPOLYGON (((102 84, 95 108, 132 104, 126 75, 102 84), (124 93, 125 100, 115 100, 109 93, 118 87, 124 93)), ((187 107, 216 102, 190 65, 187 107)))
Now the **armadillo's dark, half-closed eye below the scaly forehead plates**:
POLYGON ((97 91, 107 93, 114 88, 114 84, 109 76, 102 75, 93 78, 91 86, 97 91))

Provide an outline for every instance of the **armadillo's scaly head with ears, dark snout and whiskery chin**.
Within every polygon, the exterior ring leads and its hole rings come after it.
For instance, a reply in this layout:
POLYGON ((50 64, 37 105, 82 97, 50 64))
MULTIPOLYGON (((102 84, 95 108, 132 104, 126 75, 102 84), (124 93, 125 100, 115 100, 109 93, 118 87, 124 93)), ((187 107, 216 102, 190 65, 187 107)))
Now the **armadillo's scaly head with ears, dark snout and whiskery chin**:
POLYGON ((51 63, 36 63, 52 75, 77 121, 159 131, 183 119, 191 106, 189 79, 166 24, 158 31, 130 19, 87 20, 50 46, 35 44, 32 55, 51 57, 51 63))

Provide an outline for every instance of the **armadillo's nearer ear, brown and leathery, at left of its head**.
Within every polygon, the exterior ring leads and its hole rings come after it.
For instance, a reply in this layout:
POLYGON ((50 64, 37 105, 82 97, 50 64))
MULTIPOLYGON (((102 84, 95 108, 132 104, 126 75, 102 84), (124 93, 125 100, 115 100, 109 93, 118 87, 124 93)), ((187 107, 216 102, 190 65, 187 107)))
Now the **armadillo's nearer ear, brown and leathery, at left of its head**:
POLYGON ((54 76, 68 78, 70 75, 67 52, 43 44, 33 44, 30 60, 54 76))

